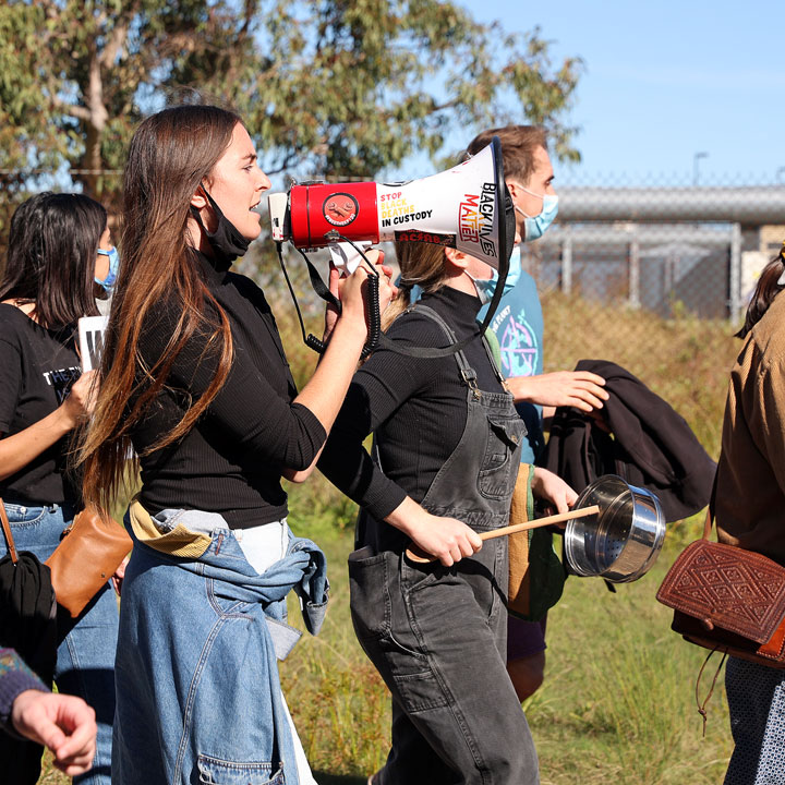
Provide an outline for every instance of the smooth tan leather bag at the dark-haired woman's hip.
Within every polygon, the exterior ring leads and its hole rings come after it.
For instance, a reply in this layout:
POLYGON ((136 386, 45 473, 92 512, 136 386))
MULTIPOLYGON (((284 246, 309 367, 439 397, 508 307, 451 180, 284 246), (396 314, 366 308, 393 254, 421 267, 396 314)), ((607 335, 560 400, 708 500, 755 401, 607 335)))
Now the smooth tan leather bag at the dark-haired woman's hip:
POLYGON ((101 518, 95 507, 76 515, 45 561, 51 570, 58 605, 76 618, 112 577, 131 546, 125 529, 113 518, 101 518))

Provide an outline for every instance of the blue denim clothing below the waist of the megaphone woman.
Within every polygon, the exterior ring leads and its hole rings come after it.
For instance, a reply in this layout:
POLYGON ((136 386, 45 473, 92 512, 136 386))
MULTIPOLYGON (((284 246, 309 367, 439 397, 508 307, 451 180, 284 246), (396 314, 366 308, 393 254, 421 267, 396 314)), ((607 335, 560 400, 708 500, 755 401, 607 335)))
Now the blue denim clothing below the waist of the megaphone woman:
POLYGON ((120 612, 114 785, 297 785, 276 651, 282 659, 278 644, 299 637, 285 623, 292 588, 318 631, 324 555, 292 538, 259 575, 220 516, 154 520, 206 532, 210 544, 181 558, 135 542, 120 612))

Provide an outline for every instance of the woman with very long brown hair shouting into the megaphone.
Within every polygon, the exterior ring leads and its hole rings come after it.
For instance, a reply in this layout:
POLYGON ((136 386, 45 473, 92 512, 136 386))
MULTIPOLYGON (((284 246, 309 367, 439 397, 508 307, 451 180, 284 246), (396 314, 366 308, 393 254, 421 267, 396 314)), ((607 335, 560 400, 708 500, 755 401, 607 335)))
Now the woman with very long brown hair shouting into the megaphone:
MULTIPOLYGON (((312 782, 276 655, 295 588, 316 631, 324 556, 287 527, 281 476, 312 471, 367 337, 365 271, 298 392, 261 289, 230 271, 269 188, 241 119, 210 106, 147 118, 125 167, 123 265, 82 459, 107 505, 126 456, 113 782, 312 782)), ((383 277, 383 304, 392 289, 383 277)))

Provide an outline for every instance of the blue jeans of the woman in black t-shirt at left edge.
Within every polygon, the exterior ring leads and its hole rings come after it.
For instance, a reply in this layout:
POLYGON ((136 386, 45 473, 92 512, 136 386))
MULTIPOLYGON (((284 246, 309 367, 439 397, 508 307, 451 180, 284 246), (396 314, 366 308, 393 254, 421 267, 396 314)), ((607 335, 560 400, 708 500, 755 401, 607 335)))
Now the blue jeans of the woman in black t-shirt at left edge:
MULTIPOLYGON (((40 561, 60 543, 63 529, 73 520, 71 505, 27 507, 5 502, 5 511, 17 551, 31 551, 40 561)), ((0 539, 0 556, 5 554, 0 539)), ((98 748, 93 769, 74 778, 80 785, 111 785, 111 735, 114 717, 114 651, 118 607, 109 583, 92 600, 77 619, 58 617, 55 684, 61 692, 83 698, 95 709, 98 748)))

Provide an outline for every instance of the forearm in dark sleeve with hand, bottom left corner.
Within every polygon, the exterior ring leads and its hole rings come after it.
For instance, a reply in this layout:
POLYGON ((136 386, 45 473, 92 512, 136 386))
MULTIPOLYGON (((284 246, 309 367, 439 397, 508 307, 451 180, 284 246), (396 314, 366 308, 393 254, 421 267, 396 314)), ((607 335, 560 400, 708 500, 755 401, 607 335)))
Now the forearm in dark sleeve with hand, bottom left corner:
POLYGON ((81 698, 49 690, 13 649, 0 649, 0 728, 48 747, 69 776, 93 765, 95 711, 81 698))

